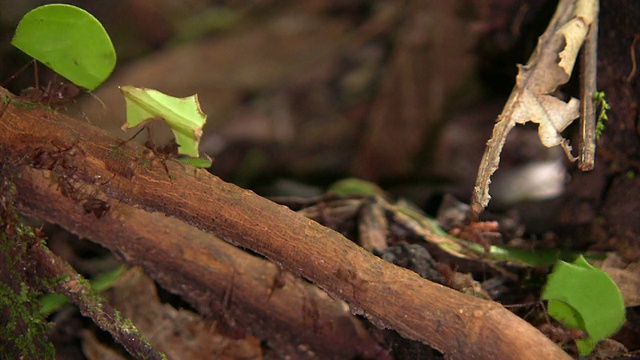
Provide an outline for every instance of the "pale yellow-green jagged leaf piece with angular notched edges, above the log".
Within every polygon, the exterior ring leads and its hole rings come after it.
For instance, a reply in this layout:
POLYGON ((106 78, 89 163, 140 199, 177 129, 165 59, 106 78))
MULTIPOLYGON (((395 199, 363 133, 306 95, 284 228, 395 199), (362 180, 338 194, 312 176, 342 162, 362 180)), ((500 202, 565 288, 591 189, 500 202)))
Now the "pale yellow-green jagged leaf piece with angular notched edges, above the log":
POLYGON ((200 110, 198 95, 177 98, 153 89, 121 86, 127 103, 127 122, 123 130, 146 121, 161 118, 171 127, 178 144, 178 153, 198 157, 202 127, 207 115, 200 110))

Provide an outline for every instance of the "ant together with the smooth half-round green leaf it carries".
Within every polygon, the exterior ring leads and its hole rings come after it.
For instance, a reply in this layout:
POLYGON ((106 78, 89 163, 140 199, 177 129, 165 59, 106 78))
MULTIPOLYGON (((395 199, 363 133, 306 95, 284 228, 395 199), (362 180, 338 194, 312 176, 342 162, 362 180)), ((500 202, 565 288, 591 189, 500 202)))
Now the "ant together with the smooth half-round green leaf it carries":
POLYGON ((48 108, 71 102, 80 95, 81 88, 95 89, 116 64, 113 44, 102 24, 72 5, 49 4, 31 10, 20 20, 11 44, 34 60, 8 81, 33 64, 35 85, 23 90, 21 97, 48 108), (56 73, 46 85, 40 83, 38 62, 56 73), (58 74, 69 82, 59 80, 58 74))

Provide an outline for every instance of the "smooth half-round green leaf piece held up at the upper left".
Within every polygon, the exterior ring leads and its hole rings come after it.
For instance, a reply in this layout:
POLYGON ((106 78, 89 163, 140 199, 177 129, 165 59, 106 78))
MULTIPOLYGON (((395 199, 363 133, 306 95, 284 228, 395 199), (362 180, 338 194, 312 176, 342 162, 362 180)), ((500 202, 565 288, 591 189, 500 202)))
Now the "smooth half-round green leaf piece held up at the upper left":
POLYGON ((11 44, 88 90, 102 84, 116 65, 116 52, 102 24, 72 5, 31 10, 18 24, 11 44))

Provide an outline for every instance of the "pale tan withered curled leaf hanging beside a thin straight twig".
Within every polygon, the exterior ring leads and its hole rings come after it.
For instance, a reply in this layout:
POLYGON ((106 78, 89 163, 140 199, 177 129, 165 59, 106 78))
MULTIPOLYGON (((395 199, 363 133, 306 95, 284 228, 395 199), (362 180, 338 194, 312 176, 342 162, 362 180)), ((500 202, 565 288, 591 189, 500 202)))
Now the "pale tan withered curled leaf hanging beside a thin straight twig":
POLYGON ((516 85, 498 116, 478 170, 473 211, 489 203, 491 175, 498 169, 500 152, 509 131, 528 121, 539 124, 540 141, 546 147, 562 146, 571 161, 569 141, 560 134, 580 115, 580 101, 558 99, 553 93, 571 77, 578 51, 598 13, 597 0, 562 0, 525 66, 519 65, 516 85))

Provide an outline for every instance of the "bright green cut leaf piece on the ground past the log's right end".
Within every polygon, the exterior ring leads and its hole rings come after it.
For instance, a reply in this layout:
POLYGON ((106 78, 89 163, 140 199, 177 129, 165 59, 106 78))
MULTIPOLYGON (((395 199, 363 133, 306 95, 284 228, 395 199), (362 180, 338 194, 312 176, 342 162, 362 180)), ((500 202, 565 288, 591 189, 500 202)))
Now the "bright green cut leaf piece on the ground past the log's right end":
POLYGON ((542 299, 549 301, 551 317, 588 335, 576 340, 583 356, 591 353, 598 341, 615 334, 625 320, 624 301, 615 282, 582 256, 571 264, 558 262, 542 299))

